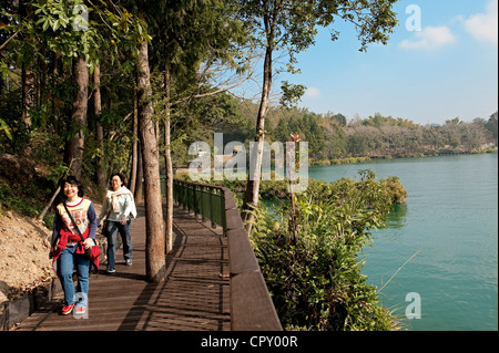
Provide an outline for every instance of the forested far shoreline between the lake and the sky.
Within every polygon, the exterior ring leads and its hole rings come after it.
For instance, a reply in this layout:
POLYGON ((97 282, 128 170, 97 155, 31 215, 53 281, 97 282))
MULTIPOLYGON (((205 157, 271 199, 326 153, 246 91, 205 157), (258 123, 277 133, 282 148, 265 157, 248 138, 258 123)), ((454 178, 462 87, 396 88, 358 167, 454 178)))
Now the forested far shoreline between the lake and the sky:
MULTIPOLYGON (((252 102, 235 102, 234 114, 238 123, 205 131, 203 141, 212 141, 211 134, 222 132, 224 143, 237 141, 247 146, 252 141, 252 112, 255 108, 252 102)), ((284 143, 289 141, 291 134, 298 134, 302 141, 308 142, 310 165, 357 163, 369 158, 497 152, 497 118, 496 112, 488 118, 477 117, 472 122, 455 117, 442 125, 420 125, 380 113, 347 120, 340 113, 317 114, 305 108, 275 106, 267 115, 266 139, 269 143, 284 143)), ((187 156, 179 162, 186 165, 192 158, 187 156)))

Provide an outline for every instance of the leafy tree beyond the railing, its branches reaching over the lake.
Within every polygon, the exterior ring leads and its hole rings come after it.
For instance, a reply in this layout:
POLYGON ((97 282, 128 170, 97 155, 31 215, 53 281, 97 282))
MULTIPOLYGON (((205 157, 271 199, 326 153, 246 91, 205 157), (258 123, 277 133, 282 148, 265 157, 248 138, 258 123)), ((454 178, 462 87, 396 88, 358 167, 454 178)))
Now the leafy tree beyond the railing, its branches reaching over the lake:
MULTIPOLYGON (((255 42, 265 50, 263 84, 259 108, 256 118, 255 156, 253 175, 248 175, 246 194, 242 207, 242 218, 246 222, 249 233, 254 214, 252 208, 258 204, 259 179, 262 168, 263 142, 265 138, 265 117, 268 112, 269 94, 272 90, 274 53, 287 50, 289 53, 288 71, 296 72, 294 54, 314 43, 316 27, 328 27, 335 18, 346 20, 357 27, 360 51, 365 51, 368 43, 386 43, 388 33, 397 24, 396 14, 391 11, 396 0, 375 1, 292 1, 292 0, 241 0, 242 13, 245 20, 254 27, 255 42)), ((338 37, 332 31, 332 39, 338 37)), ((287 84, 287 87, 289 85, 287 84)), ((287 89, 287 93, 292 90, 287 89)), ((303 90, 295 90, 303 92, 303 90)))

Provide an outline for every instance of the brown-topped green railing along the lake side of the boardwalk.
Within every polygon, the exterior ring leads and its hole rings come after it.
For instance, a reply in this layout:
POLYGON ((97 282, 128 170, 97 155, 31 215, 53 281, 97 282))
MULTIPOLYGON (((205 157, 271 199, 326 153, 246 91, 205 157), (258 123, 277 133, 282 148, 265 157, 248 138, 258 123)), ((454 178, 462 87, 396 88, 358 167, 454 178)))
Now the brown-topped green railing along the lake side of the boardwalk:
POLYGON ((224 229, 228 242, 231 329, 283 331, 232 191, 222 186, 175 179, 173 198, 224 229))

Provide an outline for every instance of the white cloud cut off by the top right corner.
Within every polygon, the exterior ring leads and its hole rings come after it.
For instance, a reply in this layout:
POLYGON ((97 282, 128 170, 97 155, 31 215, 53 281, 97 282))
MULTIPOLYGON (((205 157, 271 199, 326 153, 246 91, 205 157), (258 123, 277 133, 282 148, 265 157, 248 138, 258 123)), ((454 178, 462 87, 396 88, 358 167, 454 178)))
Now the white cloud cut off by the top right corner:
POLYGON ((476 39, 497 43, 498 42, 498 0, 487 4, 486 13, 477 13, 465 20, 466 30, 476 39))

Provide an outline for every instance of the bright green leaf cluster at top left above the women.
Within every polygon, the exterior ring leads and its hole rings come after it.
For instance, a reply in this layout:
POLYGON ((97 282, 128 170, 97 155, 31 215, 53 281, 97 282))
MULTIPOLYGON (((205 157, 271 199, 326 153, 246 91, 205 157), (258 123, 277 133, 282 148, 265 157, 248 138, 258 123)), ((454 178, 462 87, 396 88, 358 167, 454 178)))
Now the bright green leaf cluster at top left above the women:
POLYGON ((111 8, 105 1, 92 7, 83 0, 73 0, 70 4, 63 0, 31 1, 31 6, 34 8, 34 23, 24 23, 32 31, 31 35, 38 37, 42 32, 41 40, 47 49, 59 55, 84 58, 90 73, 99 62, 100 51, 108 50, 114 59, 120 42, 133 58, 136 42, 150 40, 142 21, 126 9, 111 8))

